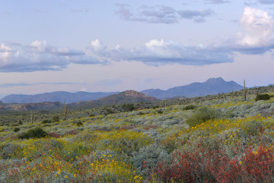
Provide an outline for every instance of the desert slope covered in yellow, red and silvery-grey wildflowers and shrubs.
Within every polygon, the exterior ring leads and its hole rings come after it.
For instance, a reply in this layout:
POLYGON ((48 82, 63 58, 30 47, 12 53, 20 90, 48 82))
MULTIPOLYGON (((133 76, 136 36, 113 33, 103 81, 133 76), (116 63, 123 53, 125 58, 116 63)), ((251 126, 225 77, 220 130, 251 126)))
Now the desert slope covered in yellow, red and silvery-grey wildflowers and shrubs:
POLYGON ((0 182, 274 182, 274 99, 255 98, 2 125, 0 182))

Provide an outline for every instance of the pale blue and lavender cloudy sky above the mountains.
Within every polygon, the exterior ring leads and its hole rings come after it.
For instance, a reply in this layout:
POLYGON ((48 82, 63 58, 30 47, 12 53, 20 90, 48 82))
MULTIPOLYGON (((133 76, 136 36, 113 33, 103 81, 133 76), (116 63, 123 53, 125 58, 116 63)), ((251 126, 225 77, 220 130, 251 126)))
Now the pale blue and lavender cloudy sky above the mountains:
POLYGON ((274 84, 274 0, 0 3, 0 97, 274 84))

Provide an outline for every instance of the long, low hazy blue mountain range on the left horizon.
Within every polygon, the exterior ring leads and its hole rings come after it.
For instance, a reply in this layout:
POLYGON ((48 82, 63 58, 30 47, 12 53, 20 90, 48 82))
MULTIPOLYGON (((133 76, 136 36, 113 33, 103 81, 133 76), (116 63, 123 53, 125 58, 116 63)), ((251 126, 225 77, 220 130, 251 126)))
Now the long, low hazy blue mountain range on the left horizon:
POLYGON ((101 97, 106 97, 109 95, 113 95, 119 92, 110 92, 110 93, 88 93, 88 92, 77 92, 77 93, 69 93, 64 91, 52 92, 52 93, 42 93, 37 95, 8 95, 1 99, 3 103, 41 103, 44 101, 60 101, 66 103, 73 103, 77 101, 89 101, 96 100, 101 97))

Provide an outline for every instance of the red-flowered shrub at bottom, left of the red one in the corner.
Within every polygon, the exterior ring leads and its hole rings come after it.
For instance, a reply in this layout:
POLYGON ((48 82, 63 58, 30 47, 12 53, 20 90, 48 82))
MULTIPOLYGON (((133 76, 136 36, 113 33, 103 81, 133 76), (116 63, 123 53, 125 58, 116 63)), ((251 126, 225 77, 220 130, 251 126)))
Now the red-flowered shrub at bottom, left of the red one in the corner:
POLYGON ((160 162, 154 169, 163 182, 216 182, 216 173, 229 159, 219 151, 175 151, 171 162, 160 162))

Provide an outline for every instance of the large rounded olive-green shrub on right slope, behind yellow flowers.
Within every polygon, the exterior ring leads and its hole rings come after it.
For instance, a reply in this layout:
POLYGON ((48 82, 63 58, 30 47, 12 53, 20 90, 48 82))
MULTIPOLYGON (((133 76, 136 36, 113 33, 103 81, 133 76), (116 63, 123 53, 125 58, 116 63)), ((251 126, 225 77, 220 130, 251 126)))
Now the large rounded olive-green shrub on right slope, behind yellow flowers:
POLYGON ((186 120, 186 123, 188 123, 190 127, 195 127, 196 125, 199 125, 210 119, 219 119, 220 117, 221 110, 201 107, 193 112, 192 116, 186 120))

